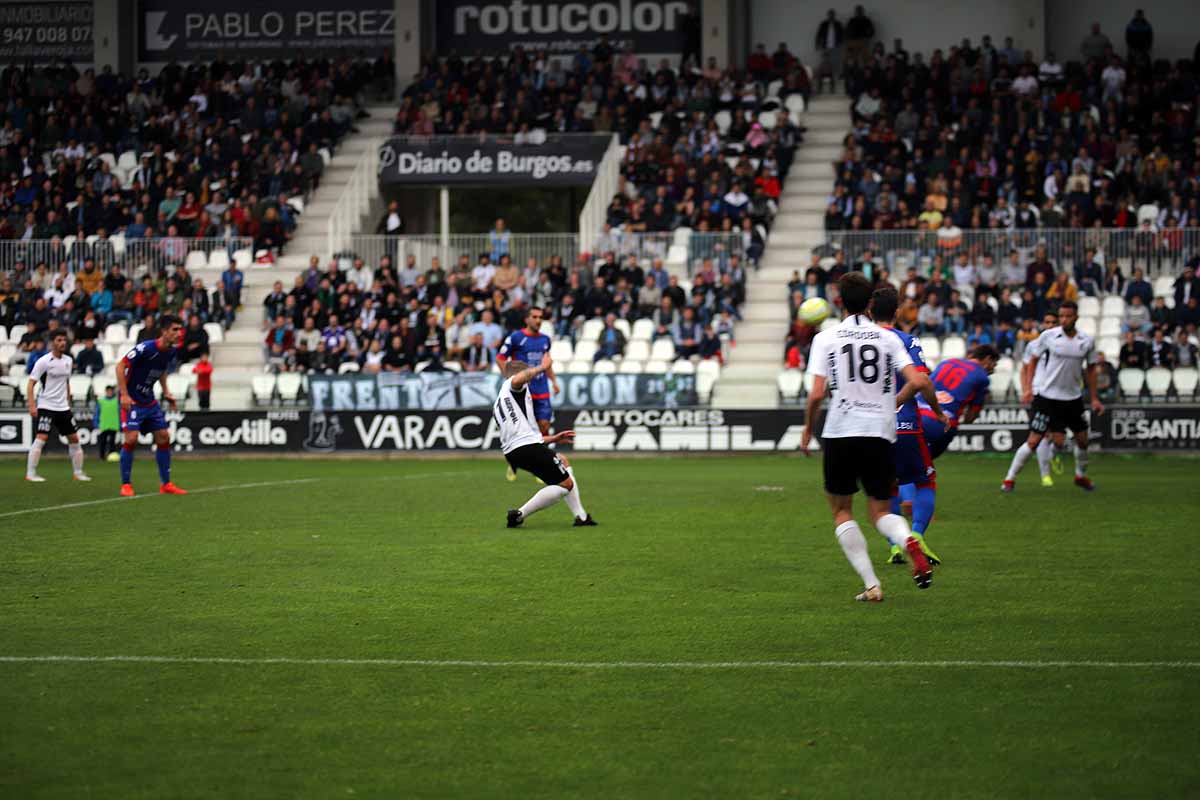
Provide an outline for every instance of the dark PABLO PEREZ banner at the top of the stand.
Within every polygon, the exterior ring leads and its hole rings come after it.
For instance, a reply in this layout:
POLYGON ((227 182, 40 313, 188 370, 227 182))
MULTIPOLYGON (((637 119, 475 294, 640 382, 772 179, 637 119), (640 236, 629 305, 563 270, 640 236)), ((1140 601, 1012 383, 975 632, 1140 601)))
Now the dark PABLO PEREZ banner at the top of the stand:
POLYGON ((140 61, 377 58, 395 46, 391 0, 142 0, 139 14, 140 61))

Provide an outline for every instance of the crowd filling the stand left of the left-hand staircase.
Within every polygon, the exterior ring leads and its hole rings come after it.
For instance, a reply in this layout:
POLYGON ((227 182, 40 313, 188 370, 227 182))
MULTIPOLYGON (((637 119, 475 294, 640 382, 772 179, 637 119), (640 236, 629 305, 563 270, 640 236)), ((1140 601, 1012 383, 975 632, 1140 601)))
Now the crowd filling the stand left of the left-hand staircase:
MULTIPOLYGON (((233 323, 244 276, 234 263, 216 287, 193 279, 182 265, 191 240, 248 237, 274 258, 296 223, 288 200, 317 186, 320 151, 354 128, 364 88, 391 68, 217 60, 128 77, 62 62, 5 67, 0 327, 24 326, 6 361, 40 353, 59 329, 83 343, 124 321, 148 338, 162 313, 184 317, 198 357, 204 323, 233 323)), ((80 371, 102 368, 98 350, 85 353, 80 371)))

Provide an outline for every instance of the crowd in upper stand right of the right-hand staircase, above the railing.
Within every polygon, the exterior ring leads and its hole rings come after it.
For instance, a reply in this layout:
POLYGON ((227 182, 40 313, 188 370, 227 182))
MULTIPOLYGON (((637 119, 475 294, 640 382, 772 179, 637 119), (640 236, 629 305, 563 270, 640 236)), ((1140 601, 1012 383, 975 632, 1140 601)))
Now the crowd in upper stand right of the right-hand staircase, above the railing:
POLYGON ((876 43, 846 68, 853 133, 827 230, 936 230, 953 247, 973 229, 1138 228, 1170 249, 1200 227, 1200 80, 1151 44, 1141 12, 1126 53, 1093 25, 1066 61, 989 36, 928 60, 876 43))

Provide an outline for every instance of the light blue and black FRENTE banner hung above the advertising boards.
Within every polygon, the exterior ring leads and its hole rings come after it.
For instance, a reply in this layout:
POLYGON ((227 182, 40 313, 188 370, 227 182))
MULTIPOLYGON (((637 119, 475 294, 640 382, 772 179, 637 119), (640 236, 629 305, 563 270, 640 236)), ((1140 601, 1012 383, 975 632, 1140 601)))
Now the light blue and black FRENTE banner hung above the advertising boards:
MULTIPOLYGON (((382 372, 374 375, 311 375, 316 411, 397 411, 490 408, 502 378, 490 372, 382 372)), ((564 374, 557 408, 695 405, 695 375, 564 374)))

